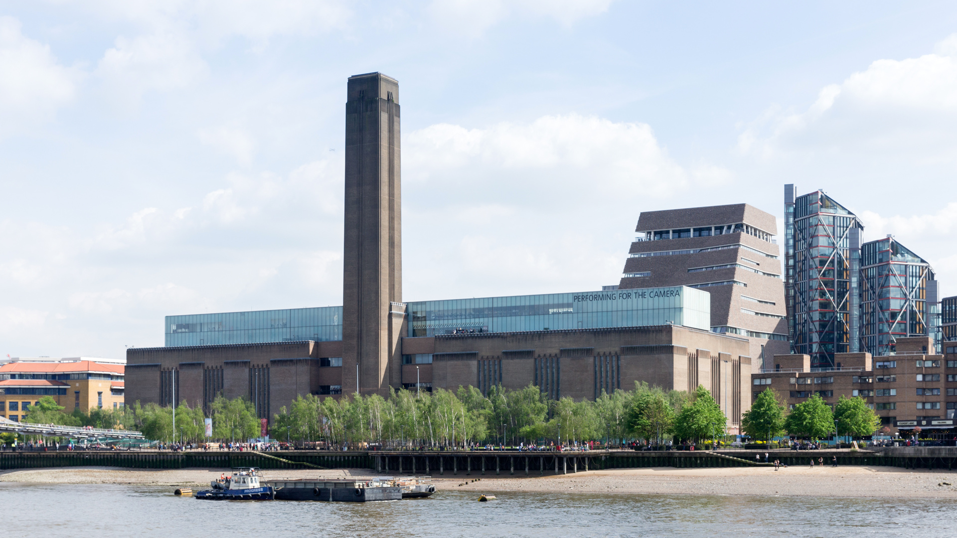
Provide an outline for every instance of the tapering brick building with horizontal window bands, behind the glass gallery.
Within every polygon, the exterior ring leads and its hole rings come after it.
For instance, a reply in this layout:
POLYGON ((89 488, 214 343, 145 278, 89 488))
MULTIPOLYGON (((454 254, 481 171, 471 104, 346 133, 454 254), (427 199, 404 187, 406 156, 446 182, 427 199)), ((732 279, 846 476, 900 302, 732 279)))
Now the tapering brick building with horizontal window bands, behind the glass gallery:
POLYGON ((756 369, 788 352, 773 215, 747 204, 642 212, 636 232, 618 289, 701 288, 711 330, 746 337, 756 369))

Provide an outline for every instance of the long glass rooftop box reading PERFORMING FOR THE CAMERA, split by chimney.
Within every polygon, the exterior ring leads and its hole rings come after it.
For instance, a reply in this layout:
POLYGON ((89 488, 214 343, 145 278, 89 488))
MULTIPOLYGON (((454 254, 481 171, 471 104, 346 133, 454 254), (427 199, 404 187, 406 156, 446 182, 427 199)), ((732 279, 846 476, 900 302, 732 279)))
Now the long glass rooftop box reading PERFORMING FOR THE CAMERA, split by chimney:
MULTIPOLYGON (((711 296, 685 286, 408 303, 408 336, 642 325, 709 330, 711 296)), ((342 306, 167 316, 166 346, 342 340, 342 306)))

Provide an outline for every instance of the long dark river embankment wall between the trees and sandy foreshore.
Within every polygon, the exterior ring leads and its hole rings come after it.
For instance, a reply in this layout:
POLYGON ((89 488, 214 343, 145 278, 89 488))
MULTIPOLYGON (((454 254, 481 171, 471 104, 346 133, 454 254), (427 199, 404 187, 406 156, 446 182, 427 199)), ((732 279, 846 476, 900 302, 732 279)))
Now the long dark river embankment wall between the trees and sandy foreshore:
MULTIPOLYGON (((957 466, 957 447, 899 447, 874 450, 771 450, 769 460, 785 465, 890 466, 947 469, 957 466)), ((765 451, 71 451, 2 452, 0 469, 105 466, 137 469, 260 467, 263 469, 365 468, 377 473, 426 475, 565 475, 580 471, 642 467, 768 466, 765 451), (755 456, 759 458, 756 459, 755 456)))

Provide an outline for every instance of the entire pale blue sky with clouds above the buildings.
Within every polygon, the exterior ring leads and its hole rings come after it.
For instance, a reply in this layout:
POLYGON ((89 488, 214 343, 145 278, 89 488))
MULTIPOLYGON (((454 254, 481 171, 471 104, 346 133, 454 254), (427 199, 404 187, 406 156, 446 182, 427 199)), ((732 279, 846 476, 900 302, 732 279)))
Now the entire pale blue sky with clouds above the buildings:
POLYGON ((957 4, 774 4, 0 1, 0 353, 341 304, 345 81, 373 71, 405 301, 600 289, 639 213, 780 227, 790 183, 957 294, 957 4))

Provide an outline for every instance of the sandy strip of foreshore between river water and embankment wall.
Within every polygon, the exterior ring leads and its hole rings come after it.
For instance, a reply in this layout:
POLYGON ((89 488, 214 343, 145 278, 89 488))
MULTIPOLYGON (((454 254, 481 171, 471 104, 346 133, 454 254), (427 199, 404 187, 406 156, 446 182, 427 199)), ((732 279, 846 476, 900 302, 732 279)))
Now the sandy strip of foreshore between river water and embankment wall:
MULTIPOLYGON (((0 482, 42 484, 138 484, 205 486, 229 469, 122 469, 67 467, 0 473, 0 482)), ((369 469, 263 470, 267 479, 371 477, 369 469)), ((757 495, 812 497, 924 497, 957 499, 957 471, 897 467, 718 467, 606 469, 568 475, 524 477, 472 474, 434 476, 439 491, 481 493, 613 493, 657 495, 757 495)))

